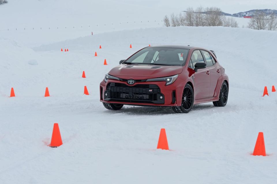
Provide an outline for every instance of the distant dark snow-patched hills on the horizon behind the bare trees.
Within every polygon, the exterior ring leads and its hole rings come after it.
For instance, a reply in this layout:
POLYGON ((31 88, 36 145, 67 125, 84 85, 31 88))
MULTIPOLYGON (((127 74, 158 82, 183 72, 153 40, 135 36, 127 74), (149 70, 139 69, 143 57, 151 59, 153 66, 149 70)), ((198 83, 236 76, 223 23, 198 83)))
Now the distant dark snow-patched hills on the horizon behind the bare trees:
MULTIPOLYGON (((209 14, 210 12, 195 12, 195 13, 209 14)), ((277 10, 271 10, 271 9, 249 10, 247 12, 239 12, 236 14, 228 14, 225 12, 220 12, 221 15, 232 16, 232 17, 254 17, 255 14, 258 14, 258 13, 264 13, 266 15, 271 15, 271 14, 277 15, 277 10)))

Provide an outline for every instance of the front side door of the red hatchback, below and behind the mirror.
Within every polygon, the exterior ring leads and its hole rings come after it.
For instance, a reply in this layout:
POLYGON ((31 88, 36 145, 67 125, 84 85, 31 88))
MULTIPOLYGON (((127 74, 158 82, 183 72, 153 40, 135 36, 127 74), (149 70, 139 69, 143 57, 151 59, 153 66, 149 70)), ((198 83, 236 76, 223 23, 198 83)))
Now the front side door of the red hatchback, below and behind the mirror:
MULTIPOLYGON (((194 69, 196 62, 205 62, 200 50, 195 50, 190 58, 191 67, 194 69)), ((211 77, 208 69, 198 69, 194 73, 194 98, 196 100, 209 97, 209 88, 211 83, 211 77)))

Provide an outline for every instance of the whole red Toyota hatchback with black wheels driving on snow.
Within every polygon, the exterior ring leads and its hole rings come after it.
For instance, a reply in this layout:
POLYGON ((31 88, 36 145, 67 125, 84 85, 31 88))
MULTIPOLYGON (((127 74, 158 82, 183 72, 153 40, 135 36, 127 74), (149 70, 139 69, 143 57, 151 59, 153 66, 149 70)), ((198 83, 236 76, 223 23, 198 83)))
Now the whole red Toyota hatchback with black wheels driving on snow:
POLYGON ((198 103, 227 104, 229 79, 214 51, 150 46, 119 64, 100 83, 100 101, 107 109, 170 106, 176 113, 188 113, 198 103))

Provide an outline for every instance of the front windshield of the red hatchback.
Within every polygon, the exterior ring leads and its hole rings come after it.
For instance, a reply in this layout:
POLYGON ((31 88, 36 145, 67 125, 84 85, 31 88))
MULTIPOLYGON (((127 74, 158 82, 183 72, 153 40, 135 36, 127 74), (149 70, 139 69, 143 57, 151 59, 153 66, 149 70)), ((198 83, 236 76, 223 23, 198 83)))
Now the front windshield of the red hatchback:
POLYGON ((188 52, 189 49, 179 48, 144 48, 123 63, 182 66, 188 52))

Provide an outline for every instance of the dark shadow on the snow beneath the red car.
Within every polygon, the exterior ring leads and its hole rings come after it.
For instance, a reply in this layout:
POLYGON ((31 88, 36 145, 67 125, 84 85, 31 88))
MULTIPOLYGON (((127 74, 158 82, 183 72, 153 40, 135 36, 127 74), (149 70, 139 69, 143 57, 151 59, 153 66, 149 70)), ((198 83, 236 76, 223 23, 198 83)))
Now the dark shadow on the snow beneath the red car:
MULTIPOLYGON (((193 106, 189 113, 201 110, 211 110, 214 109, 214 105, 211 104, 196 104, 193 106)), ((163 115, 163 114, 179 114, 175 113, 171 107, 143 107, 143 106, 123 106, 122 109, 118 111, 105 111, 109 114, 124 113, 130 115, 163 115)))

